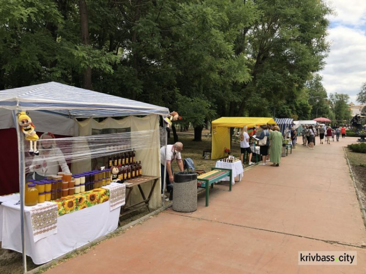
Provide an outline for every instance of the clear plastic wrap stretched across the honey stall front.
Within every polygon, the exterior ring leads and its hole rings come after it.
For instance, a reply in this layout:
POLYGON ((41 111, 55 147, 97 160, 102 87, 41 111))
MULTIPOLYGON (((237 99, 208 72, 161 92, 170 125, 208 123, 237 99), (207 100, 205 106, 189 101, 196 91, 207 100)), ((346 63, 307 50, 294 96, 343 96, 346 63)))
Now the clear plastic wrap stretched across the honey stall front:
MULTIPOLYGON (((160 148, 160 144, 157 141, 153 141, 156 139, 154 136, 157 133, 159 133, 158 130, 144 130, 81 137, 39 139, 37 148, 40 155, 28 157, 27 166, 29 166, 30 171, 43 169, 40 173, 45 175, 49 174, 49 171, 55 166, 61 166, 63 170, 66 163, 106 157, 128 151, 160 148)), ((105 162, 106 165, 107 162, 105 162)))

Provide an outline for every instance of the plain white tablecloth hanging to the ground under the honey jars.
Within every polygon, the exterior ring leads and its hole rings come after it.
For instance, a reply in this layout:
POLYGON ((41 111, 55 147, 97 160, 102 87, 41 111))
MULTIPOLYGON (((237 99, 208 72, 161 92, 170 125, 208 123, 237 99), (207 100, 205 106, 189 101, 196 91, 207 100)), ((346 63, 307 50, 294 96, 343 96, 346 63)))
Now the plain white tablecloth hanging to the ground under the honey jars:
MULTIPOLYGON (((0 239, 2 248, 21 253, 19 194, 2 196, 0 201, 0 239)), ((57 234, 33 240, 30 212, 25 209, 25 250, 35 264, 43 264, 66 254, 98 237, 114 231, 118 226, 121 207, 110 211, 106 201, 73 213, 62 215, 57 220, 57 234)))

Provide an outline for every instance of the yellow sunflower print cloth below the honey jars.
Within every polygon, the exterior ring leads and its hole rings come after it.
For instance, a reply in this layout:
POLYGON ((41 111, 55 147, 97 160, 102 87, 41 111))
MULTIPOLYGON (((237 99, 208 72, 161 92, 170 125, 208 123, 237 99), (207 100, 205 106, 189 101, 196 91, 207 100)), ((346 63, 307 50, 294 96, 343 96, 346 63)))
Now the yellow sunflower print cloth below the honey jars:
POLYGON ((109 200, 109 189, 96 188, 79 194, 65 196, 51 201, 58 206, 58 216, 72 213, 83 208, 104 203, 109 200))

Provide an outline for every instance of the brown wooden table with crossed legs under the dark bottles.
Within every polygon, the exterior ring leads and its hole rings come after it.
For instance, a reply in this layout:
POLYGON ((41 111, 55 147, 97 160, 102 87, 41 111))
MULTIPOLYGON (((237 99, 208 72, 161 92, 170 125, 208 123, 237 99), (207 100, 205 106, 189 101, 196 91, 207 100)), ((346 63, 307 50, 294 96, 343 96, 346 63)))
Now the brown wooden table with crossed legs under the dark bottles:
POLYGON ((125 200, 126 203, 124 206, 121 207, 120 221, 121 221, 122 216, 129 214, 131 212, 134 212, 143 206, 146 206, 147 210, 150 211, 149 201, 154 192, 155 185, 156 185, 157 181, 159 180, 159 178, 160 178, 159 176, 141 176, 141 177, 137 177, 134 179, 129 179, 129 180, 124 181, 126 183, 126 200, 125 200), (152 180, 154 180, 154 183, 151 187, 149 195, 146 198, 145 194, 142 191, 141 184, 150 182, 152 180), (128 203, 131 199, 132 190, 135 186, 137 186, 139 188, 143 200, 141 202, 135 203, 133 205, 128 205, 128 203), (128 193, 127 193, 127 190, 128 190, 128 193))

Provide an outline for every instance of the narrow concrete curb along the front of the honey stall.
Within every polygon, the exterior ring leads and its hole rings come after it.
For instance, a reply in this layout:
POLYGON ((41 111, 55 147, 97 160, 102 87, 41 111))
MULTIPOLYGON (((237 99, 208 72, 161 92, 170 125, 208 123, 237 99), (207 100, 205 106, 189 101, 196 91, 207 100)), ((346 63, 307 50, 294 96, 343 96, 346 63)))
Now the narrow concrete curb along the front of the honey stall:
POLYGON ((76 252, 76 251, 81 251, 81 250, 84 250, 84 249, 87 249, 88 247, 90 246, 93 246, 105 239, 108 239, 109 237, 112 237, 114 234, 118 234, 120 233, 121 231, 123 230, 126 230, 127 228, 130 228, 131 226, 134 226, 136 224, 139 224, 139 223, 142 223, 143 221, 145 221, 146 219, 148 219, 149 217, 153 216, 153 215, 157 215, 159 214, 160 212, 164 211, 165 209, 169 208, 172 206, 172 203, 170 204, 165 204, 163 207, 147 214, 147 215, 144 215, 142 216, 141 218, 137 219, 137 220, 134 220, 122 227, 119 227, 117 228, 116 230, 112 231, 111 233, 108 233, 107 235, 104 235, 102 237, 99 237, 97 239, 95 239, 94 241, 91 241, 77 249, 74 249, 73 251, 70 251, 66 254, 63 254, 61 255, 60 257, 57 257, 56 259, 53 259, 52 261, 49 261, 48 263, 45 263, 45 264, 42 264, 41 266, 35 268, 35 269, 32 269, 30 271, 27 271, 26 273, 27 274, 37 274, 37 273, 42 273, 43 271, 46 271, 48 268, 50 268, 51 266, 54 266, 56 265, 57 263, 59 263, 60 261, 62 261, 63 259, 65 259, 67 256, 69 256, 70 254, 76 252))

